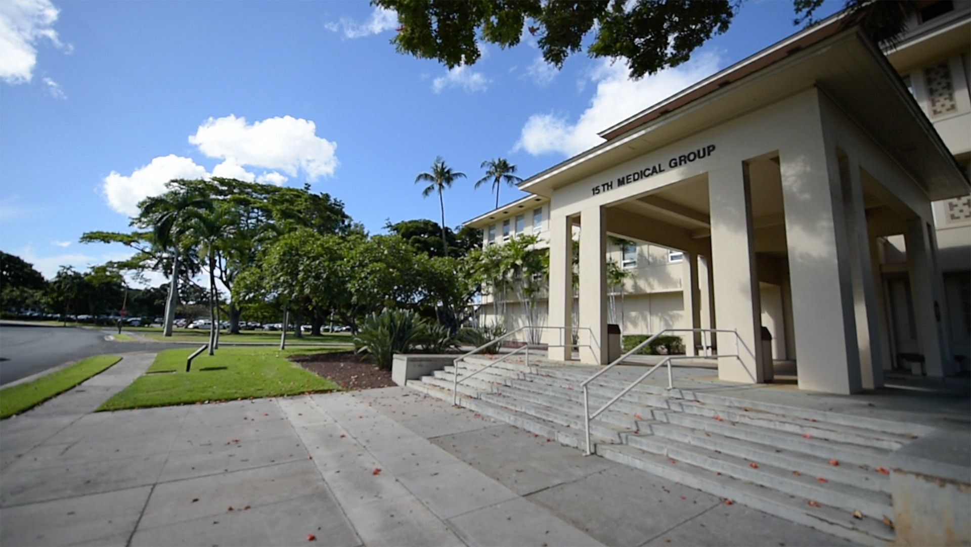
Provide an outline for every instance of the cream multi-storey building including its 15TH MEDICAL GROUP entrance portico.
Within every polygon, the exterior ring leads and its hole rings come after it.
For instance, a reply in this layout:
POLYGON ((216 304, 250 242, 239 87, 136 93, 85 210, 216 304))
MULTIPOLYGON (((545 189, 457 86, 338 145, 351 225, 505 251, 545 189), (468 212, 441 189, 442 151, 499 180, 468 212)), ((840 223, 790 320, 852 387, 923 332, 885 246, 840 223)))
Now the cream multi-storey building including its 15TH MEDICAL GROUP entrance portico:
MULTIPOLYGON (((620 120, 467 224, 485 244, 540 236, 550 280, 533 323, 575 330, 583 363, 609 361, 617 322, 727 331, 685 337, 689 354, 714 346, 723 380, 764 381, 763 327, 800 389, 966 370, 971 3, 922 6, 886 55, 840 16, 798 32, 620 120), (610 286, 610 261, 633 275, 610 286)), ((507 329, 526 323, 495 297, 507 329)))

